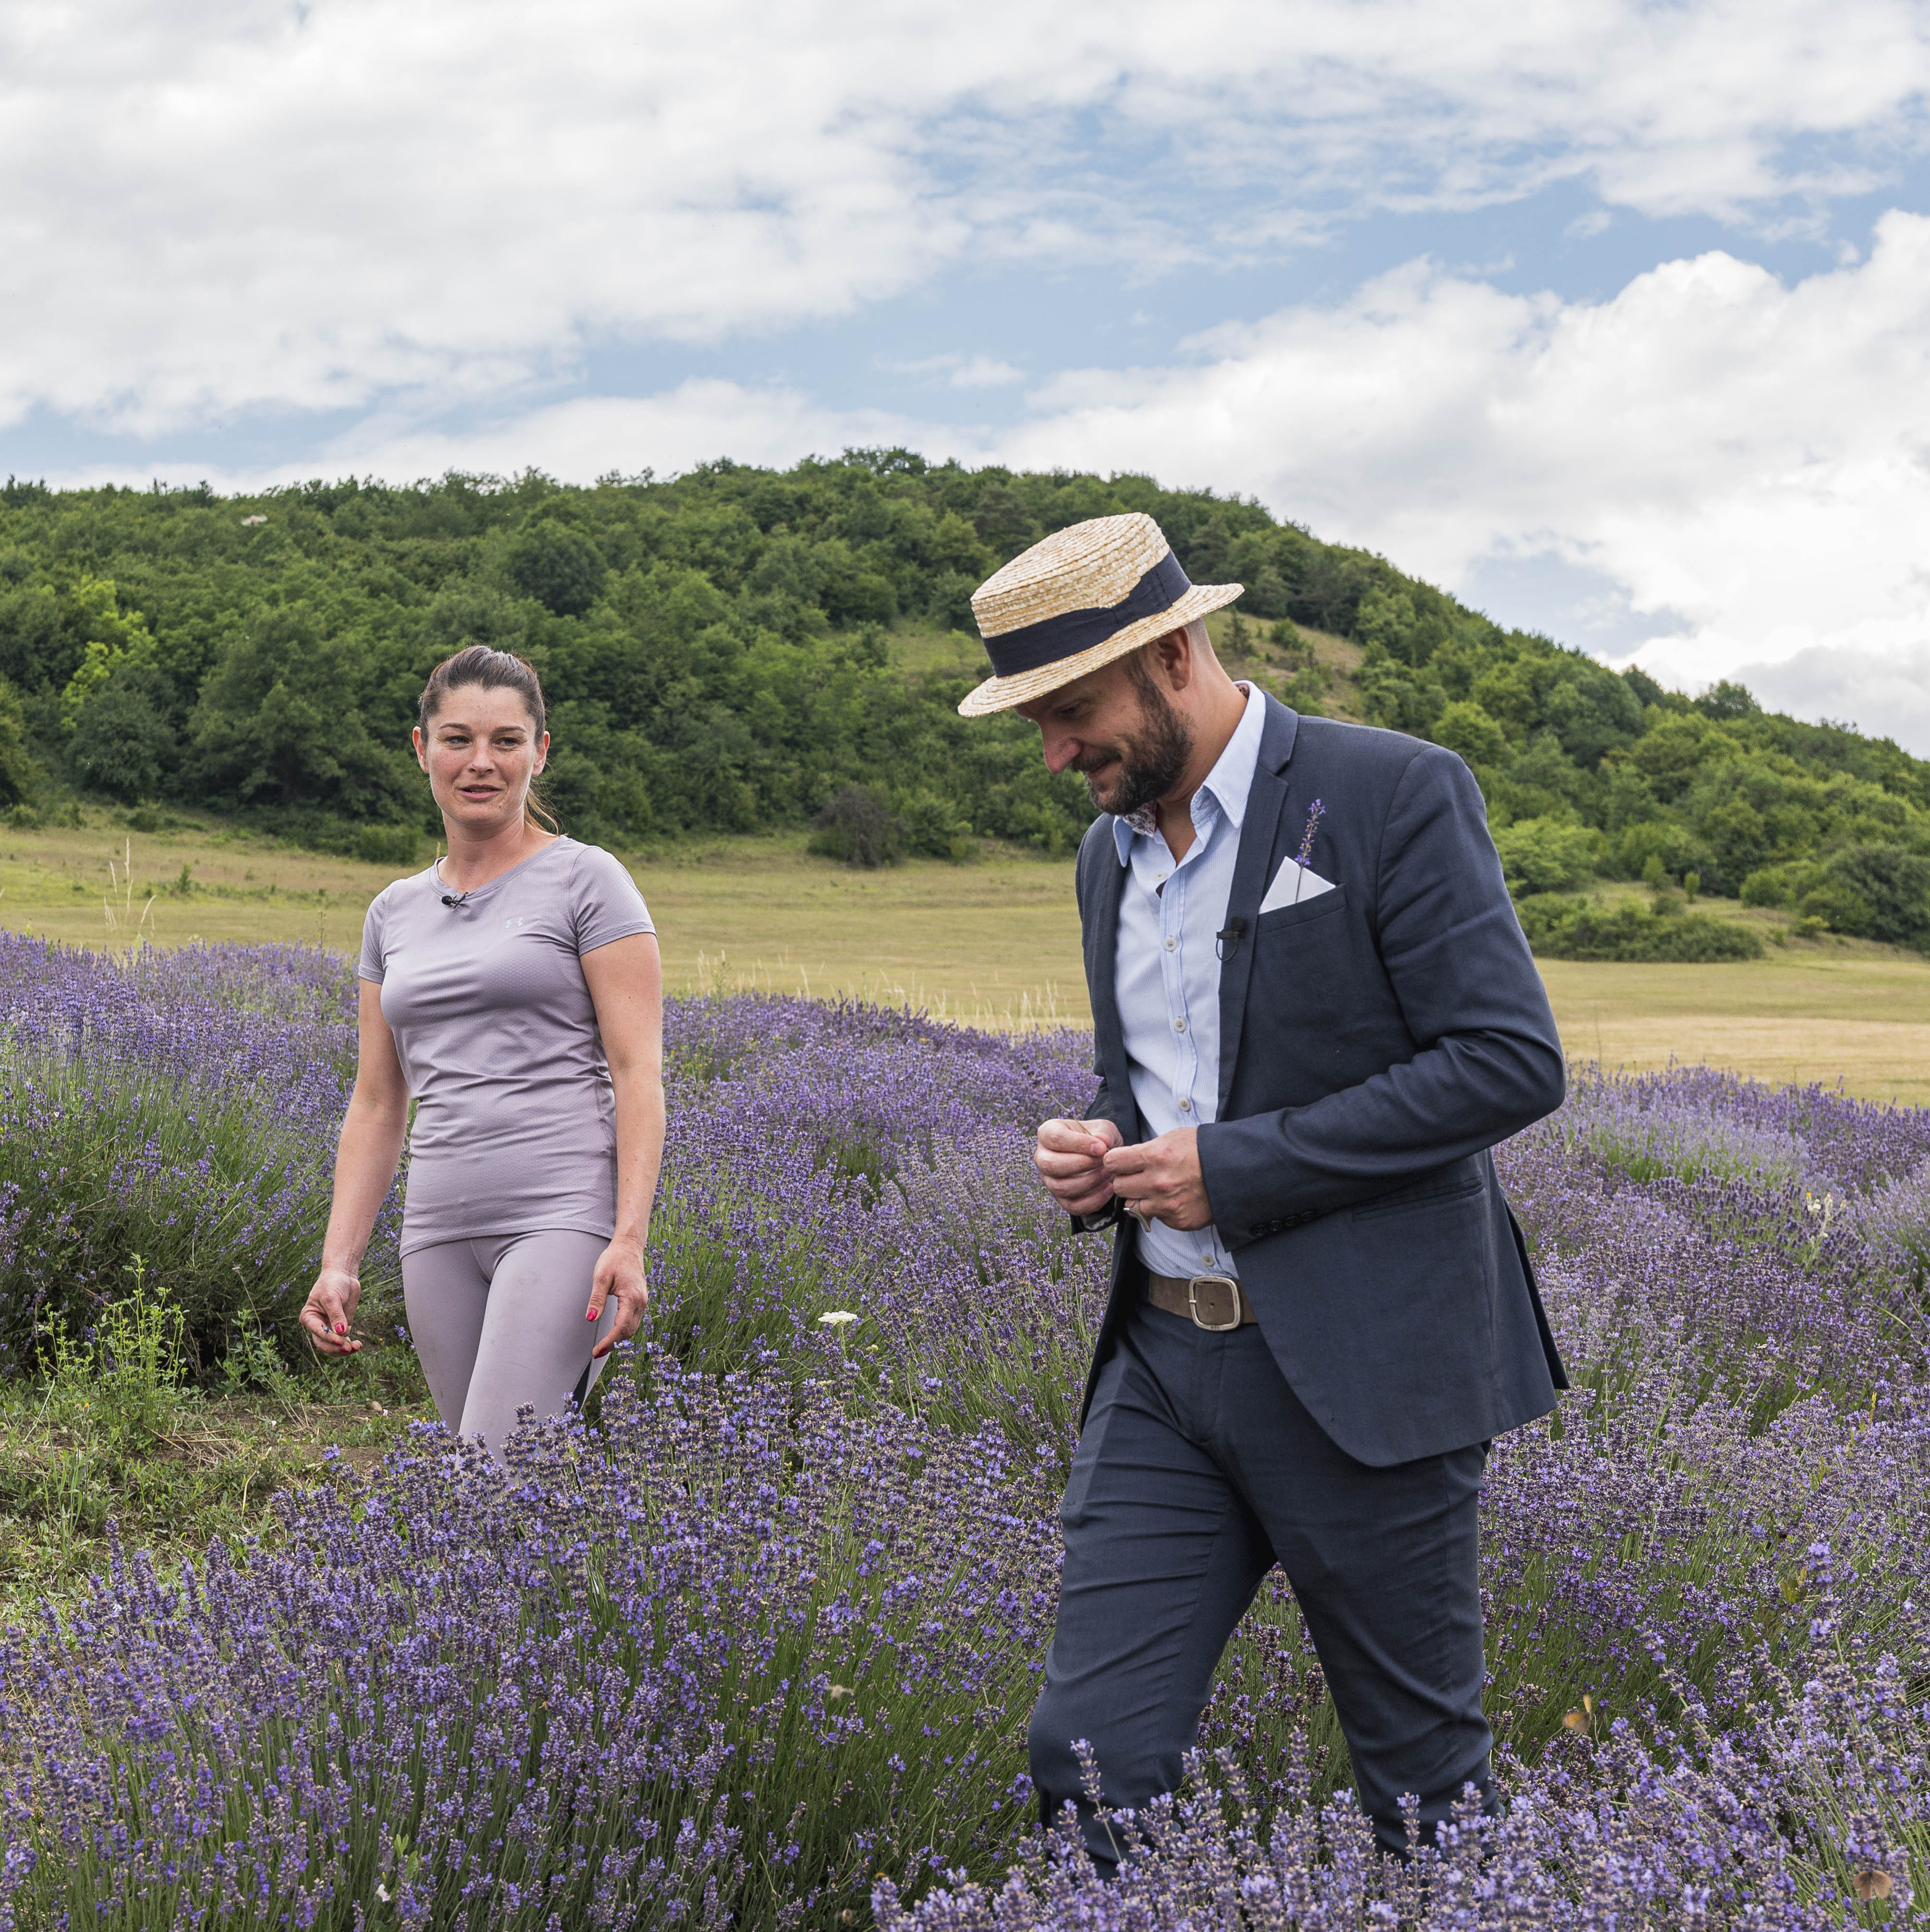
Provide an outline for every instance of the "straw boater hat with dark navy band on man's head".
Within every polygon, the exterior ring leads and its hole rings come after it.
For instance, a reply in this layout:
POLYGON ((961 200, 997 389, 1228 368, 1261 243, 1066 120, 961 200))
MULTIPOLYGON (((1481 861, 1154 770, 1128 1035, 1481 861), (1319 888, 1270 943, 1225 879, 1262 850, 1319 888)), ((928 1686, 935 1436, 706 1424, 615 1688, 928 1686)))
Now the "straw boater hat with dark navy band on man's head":
POLYGON ((1043 697, 1219 611, 1242 589, 1190 583, 1173 545, 1140 510, 1055 529, 972 591, 995 676, 958 709, 981 719, 1043 697))

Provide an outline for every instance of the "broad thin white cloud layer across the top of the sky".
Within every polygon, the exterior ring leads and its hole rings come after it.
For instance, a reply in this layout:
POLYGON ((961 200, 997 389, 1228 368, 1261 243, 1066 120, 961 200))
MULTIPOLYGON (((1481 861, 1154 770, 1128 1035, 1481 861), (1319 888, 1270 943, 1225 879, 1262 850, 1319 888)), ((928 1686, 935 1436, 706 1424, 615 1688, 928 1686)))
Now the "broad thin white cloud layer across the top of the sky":
POLYGON ((1887 164, 1926 85, 1909 0, 19 0, 0 423, 506 406, 587 340, 1555 178, 1775 211, 1887 164))

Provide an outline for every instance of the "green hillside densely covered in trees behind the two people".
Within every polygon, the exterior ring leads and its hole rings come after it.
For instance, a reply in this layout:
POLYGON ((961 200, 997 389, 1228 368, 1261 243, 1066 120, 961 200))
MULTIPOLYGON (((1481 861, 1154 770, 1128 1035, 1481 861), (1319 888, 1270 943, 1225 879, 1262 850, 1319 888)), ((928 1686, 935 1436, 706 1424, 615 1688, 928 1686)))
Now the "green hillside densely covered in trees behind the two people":
POLYGON ((1064 850, 1084 786, 1047 779, 1032 726, 954 715, 981 665, 970 591, 1117 510, 1155 516, 1196 582, 1248 585, 1223 641, 1300 709, 1335 692, 1302 632, 1347 639, 1358 711, 1474 767, 1517 893, 1694 875, 1837 931, 1930 937, 1930 763, 1889 742, 1735 686, 1617 676, 1254 502, 904 450, 589 489, 10 481, 0 804, 182 800, 400 860, 433 829, 415 696, 479 639, 541 667, 551 796, 583 837, 800 823, 866 786, 912 850, 1064 850))

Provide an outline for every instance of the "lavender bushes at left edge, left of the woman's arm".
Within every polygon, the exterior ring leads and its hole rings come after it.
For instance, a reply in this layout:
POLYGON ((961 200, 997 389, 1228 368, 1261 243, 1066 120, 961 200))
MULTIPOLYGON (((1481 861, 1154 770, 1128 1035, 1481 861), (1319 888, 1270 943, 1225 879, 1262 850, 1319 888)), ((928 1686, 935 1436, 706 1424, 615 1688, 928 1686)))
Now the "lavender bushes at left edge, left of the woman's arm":
POLYGON ((292 1335, 354 1010, 342 962, 299 947, 129 962, 0 935, 0 1372, 85 1327, 135 1258, 203 1372, 243 1308, 292 1335))

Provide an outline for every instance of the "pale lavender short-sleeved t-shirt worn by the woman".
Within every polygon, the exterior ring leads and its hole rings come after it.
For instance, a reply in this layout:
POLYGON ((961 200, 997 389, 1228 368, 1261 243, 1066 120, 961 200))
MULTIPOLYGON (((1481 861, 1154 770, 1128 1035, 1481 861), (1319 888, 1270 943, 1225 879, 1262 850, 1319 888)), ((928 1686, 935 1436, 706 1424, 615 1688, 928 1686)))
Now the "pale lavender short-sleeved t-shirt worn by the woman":
POLYGON ((616 1229, 616 1099, 583 954, 651 933, 622 862, 558 838, 446 906, 435 867, 369 906, 361 978, 415 1101, 402 1252, 616 1229))

